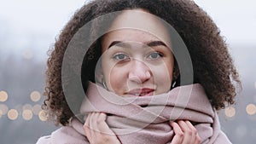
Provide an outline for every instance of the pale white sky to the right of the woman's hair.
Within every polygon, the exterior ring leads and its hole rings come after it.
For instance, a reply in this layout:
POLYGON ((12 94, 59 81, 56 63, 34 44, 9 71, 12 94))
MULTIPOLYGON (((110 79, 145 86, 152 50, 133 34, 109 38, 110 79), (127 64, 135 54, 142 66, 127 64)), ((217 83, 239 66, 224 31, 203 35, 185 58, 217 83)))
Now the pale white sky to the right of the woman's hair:
POLYGON ((256 45, 256 1, 195 0, 212 16, 229 43, 256 45))

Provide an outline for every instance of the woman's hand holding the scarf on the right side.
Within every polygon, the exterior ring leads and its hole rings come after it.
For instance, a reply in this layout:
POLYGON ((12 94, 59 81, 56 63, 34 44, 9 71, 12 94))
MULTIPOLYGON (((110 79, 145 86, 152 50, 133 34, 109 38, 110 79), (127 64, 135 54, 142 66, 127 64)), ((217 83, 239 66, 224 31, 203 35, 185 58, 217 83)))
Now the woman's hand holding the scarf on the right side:
POLYGON ((171 144, 200 144, 201 138, 189 120, 179 120, 170 124, 175 134, 171 144))

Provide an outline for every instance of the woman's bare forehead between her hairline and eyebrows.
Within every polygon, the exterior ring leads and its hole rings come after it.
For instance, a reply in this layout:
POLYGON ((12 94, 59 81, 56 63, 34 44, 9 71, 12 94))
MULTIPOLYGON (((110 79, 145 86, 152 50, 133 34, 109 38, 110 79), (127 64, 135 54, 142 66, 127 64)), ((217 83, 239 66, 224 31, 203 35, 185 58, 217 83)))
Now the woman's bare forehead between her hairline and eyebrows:
POLYGON ((113 20, 102 44, 108 45, 110 41, 143 43, 149 40, 160 40, 168 44, 169 38, 166 26, 159 18, 143 9, 132 9, 122 11, 113 20))

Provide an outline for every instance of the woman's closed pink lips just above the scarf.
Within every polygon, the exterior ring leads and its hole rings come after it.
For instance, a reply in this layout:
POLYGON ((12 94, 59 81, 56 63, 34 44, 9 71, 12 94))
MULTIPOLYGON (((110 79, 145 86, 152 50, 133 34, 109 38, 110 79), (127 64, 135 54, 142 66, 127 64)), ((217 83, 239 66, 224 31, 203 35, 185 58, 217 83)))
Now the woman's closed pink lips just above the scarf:
POLYGON ((150 88, 131 89, 130 91, 126 92, 125 95, 131 95, 131 96, 149 96, 149 95, 154 95, 154 89, 150 89, 150 88))

